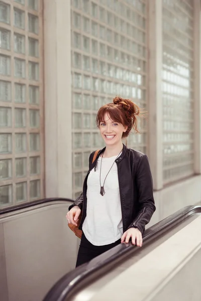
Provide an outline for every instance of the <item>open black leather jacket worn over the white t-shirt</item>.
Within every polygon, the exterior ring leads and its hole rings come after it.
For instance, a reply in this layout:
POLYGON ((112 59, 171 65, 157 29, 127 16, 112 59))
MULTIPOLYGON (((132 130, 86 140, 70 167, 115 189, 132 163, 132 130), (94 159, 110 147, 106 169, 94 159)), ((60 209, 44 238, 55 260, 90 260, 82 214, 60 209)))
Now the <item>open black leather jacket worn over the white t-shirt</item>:
MULTIPOLYGON (((90 171, 96 166, 97 158, 105 148, 97 154, 92 164, 94 152, 89 157, 89 171, 83 184, 83 193, 69 206, 69 210, 77 205, 82 210, 79 229, 81 230, 86 217, 86 190, 87 178, 90 171)), ((152 176, 146 155, 134 149, 123 146, 122 155, 116 160, 122 207, 123 231, 131 227, 138 228, 141 233, 149 223, 156 207, 153 198, 152 176)))

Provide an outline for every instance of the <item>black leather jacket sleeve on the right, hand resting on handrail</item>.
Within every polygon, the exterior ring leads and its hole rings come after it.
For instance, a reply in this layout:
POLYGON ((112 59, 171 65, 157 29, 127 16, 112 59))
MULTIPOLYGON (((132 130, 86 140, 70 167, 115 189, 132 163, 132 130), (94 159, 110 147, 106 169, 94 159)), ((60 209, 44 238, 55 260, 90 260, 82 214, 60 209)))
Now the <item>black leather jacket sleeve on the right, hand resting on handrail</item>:
POLYGON ((140 158, 136 174, 139 212, 129 228, 138 228, 143 234, 145 225, 149 223, 156 210, 153 197, 153 182, 149 161, 146 155, 140 158))

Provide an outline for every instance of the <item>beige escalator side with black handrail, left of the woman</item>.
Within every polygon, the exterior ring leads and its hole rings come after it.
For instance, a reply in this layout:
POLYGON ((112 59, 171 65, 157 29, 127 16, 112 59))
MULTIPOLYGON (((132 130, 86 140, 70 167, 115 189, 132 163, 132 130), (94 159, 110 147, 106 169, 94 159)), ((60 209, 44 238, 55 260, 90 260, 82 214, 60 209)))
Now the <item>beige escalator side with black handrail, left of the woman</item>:
POLYGON ((52 198, 0 210, 0 300, 42 300, 75 266, 79 239, 68 230, 72 200, 52 198))

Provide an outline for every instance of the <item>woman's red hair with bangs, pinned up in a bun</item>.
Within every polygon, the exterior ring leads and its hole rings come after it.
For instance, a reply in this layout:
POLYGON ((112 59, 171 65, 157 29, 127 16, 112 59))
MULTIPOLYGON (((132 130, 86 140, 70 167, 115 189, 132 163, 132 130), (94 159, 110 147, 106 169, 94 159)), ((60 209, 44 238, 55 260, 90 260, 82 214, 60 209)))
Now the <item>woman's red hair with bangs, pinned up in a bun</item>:
POLYGON ((106 113, 110 115, 113 121, 119 122, 127 127, 127 131, 123 132, 122 137, 128 137, 133 128, 136 133, 139 133, 137 127, 137 116, 140 114, 140 108, 130 99, 123 99, 116 96, 113 103, 108 103, 99 108, 96 116, 96 125, 99 127, 100 122, 105 121, 106 113))

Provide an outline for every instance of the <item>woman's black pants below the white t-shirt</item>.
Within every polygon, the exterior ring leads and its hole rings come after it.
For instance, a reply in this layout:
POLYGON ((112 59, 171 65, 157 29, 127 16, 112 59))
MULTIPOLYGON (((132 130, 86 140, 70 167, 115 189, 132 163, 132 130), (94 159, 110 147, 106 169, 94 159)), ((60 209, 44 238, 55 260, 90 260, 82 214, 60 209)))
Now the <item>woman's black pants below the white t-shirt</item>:
POLYGON ((121 239, 118 239, 117 241, 104 245, 104 246, 94 246, 92 243, 90 243, 84 233, 82 233, 81 242, 79 245, 79 251, 77 255, 77 262, 76 267, 90 261, 94 257, 112 249, 113 247, 117 246, 121 243, 121 239))

